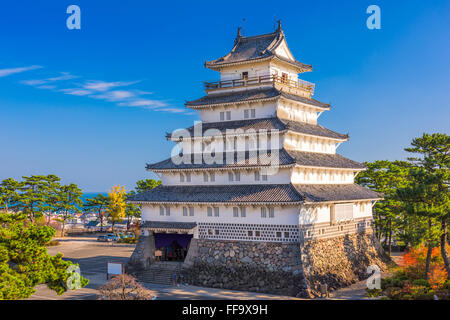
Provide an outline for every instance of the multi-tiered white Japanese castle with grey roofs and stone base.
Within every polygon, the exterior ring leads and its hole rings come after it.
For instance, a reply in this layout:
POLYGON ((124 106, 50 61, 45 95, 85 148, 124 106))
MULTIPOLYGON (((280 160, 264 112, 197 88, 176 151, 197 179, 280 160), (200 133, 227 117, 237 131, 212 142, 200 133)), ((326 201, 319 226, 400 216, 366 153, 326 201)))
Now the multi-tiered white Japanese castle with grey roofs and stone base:
POLYGON ((146 269, 178 261, 203 286, 311 296, 381 267, 372 233, 380 195, 354 183, 364 165, 336 153, 346 134, 318 124, 329 104, 299 74, 278 23, 207 61, 220 80, 186 102, 201 122, 167 134, 167 160, 148 164, 162 185, 135 195, 141 237, 131 258, 146 269))

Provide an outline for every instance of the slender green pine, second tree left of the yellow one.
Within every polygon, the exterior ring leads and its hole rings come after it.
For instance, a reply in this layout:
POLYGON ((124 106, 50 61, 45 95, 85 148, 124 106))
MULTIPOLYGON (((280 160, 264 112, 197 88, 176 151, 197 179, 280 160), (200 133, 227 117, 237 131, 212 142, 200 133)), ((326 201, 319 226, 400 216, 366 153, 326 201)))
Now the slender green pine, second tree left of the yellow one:
POLYGON ((64 237, 66 222, 74 213, 81 212, 83 192, 76 184, 63 185, 57 192, 57 210, 62 222, 61 236, 64 237))

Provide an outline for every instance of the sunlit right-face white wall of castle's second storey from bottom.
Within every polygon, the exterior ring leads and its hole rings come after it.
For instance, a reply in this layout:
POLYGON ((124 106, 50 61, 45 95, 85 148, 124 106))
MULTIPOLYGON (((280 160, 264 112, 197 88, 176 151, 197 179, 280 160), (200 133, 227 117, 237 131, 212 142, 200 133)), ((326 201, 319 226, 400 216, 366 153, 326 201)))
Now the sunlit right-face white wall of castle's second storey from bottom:
POLYGON ((295 167, 292 170, 293 184, 352 184, 355 173, 339 169, 314 169, 295 167))

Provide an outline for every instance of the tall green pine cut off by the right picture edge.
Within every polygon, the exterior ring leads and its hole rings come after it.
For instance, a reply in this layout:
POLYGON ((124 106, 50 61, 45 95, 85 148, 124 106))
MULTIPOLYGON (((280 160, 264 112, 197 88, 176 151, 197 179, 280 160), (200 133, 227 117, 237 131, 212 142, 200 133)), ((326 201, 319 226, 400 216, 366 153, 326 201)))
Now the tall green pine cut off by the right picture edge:
MULTIPOLYGON (((413 139, 411 147, 406 151, 417 154, 410 157, 415 166, 423 168, 419 175, 422 178, 422 189, 430 194, 432 201, 430 214, 440 223, 440 246, 447 275, 450 279, 450 264, 446 244, 448 241, 448 224, 450 222, 450 136, 447 134, 424 133, 422 137, 413 139)), ((422 189, 418 190, 422 191, 422 189)))

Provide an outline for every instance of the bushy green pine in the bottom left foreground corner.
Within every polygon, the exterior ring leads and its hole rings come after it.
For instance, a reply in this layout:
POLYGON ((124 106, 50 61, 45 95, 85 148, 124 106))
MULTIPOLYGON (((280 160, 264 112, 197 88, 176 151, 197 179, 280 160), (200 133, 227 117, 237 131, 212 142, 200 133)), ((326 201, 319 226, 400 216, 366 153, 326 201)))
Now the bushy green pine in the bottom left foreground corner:
POLYGON ((80 287, 88 284, 68 270, 73 263, 62 260, 62 254, 48 254, 45 245, 54 234, 51 227, 27 221, 25 214, 0 212, 0 300, 29 298, 39 284, 59 295, 71 288, 73 279, 79 279, 80 287))

